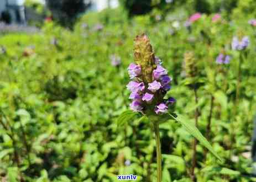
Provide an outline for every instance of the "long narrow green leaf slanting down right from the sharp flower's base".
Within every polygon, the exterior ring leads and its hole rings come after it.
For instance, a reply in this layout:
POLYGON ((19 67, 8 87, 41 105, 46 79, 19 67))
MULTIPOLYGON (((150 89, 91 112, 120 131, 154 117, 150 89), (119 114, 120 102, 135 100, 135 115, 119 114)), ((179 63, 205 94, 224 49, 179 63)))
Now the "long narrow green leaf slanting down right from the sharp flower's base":
POLYGON ((192 136, 194 136, 198 141, 200 141, 203 146, 205 146, 215 157, 217 157, 222 162, 222 158, 218 156, 218 154, 212 148, 211 144, 206 140, 205 137, 203 137, 202 133, 196 128, 194 123, 192 123, 191 121, 177 120, 176 117, 174 117, 173 115, 169 115, 177 122, 180 122, 180 124, 184 126, 185 129, 192 136))

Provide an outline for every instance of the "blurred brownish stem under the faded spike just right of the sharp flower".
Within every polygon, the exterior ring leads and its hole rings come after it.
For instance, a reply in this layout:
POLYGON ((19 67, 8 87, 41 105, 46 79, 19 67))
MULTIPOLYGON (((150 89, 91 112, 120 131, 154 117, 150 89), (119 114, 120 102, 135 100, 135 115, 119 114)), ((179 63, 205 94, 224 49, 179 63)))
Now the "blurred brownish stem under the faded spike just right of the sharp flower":
MULTIPOLYGON (((195 103, 197 105, 198 97, 197 97, 196 87, 194 87, 194 94, 195 94, 195 103)), ((196 107, 196 109, 195 109, 195 126, 196 127, 197 127, 197 123, 198 123, 198 114, 199 114, 198 107, 196 107)), ((195 178, 195 168, 196 168, 196 163, 197 163, 196 146, 197 146, 197 140, 195 138, 194 143, 193 143, 193 157, 192 157, 192 168, 191 168, 191 180, 192 181, 196 181, 196 178, 195 178)))

